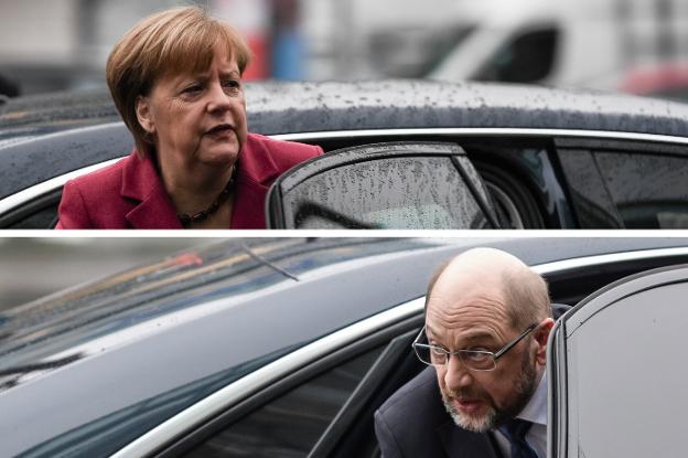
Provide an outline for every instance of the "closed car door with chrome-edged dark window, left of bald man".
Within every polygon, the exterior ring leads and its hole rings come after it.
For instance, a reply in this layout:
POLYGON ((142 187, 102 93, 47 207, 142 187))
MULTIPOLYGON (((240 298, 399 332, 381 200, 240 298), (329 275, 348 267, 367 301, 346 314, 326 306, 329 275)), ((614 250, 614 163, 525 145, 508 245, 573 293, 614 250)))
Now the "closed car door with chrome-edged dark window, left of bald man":
POLYGON ((415 299, 311 342, 112 456, 379 457, 373 413, 421 369, 409 350, 422 308, 415 299))

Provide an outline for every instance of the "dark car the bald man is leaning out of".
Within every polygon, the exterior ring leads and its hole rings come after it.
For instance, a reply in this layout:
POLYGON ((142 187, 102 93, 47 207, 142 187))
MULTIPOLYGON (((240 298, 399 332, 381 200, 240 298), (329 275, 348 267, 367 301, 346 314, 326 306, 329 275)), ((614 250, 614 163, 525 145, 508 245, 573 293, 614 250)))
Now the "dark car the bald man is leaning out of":
POLYGON ((614 452, 624 440, 606 454, 587 441, 617 437, 616 420, 653 446, 665 424, 682 428, 659 417, 687 407, 688 271, 638 273, 686 263, 687 242, 249 238, 187 251, 0 313, 0 456, 378 457, 374 411, 424 368, 411 342, 428 278, 474 245, 524 259, 553 301, 593 295, 553 334, 552 456, 630 456, 614 452), (613 395, 605 377, 622 385, 613 395), (636 405, 654 423, 614 418, 636 405), (596 430, 577 419, 600 409, 596 430))

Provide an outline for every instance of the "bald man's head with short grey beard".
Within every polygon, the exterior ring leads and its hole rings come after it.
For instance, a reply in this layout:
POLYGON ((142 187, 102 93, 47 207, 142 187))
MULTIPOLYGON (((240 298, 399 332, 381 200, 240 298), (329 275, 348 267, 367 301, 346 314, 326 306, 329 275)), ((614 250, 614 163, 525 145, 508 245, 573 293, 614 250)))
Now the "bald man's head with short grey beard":
POLYGON ((458 355, 436 365, 444 405, 459 426, 492 429, 528 403, 545 370, 551 307, 545 280, 498 249, 465 252, 433 277, 426 302, 431 345, 496 353, 531 324, 492 371, 470 369, 458 355))

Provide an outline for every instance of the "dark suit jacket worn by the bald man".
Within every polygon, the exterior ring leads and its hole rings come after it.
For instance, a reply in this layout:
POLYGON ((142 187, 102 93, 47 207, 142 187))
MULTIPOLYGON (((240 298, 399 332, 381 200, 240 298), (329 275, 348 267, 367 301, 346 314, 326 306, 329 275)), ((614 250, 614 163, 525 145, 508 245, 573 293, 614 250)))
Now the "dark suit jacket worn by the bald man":
MULTIPOLYGON (((552 303, 555 319, 569 306, 552 303)), ((384 458, 499 458, 493 433, 456 426, 444 409, 434 368, 426 368, 375 413, 375 434, 384 458)))

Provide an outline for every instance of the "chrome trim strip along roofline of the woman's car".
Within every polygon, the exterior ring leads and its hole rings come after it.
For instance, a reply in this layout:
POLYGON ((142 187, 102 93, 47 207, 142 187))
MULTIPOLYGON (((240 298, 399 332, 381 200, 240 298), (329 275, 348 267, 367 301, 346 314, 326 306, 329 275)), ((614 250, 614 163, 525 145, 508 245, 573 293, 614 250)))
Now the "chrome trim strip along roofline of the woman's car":
MULTIPOLYGON (((117 124, 117 123, 114 123, 117 124)), ((111 124, 104 126, 111 126, 111 124)), ((89 127, 89 129, 96 129, 98 127, 89 127)), ((83 130, 86 128, 82 128, 83 130)), ((64 135, 60 132, 56 135, 64 135)), ((611 130, 573 130, 573 129, 533 129, 533 128, 499 128, 499 127, 447 127, 447 128, 400 128, 400 129, 362 129, 362 130, 331 130, 319 132, 299 132, 299 134, 278 134, 269 136, 276 140, 287 141, 318 141, 323 139, 337 139, 337 138, 366 138, 366 137, 401 137, 401 136, 440 136, 440 137, 453 137, 453 136, 513 136, 513 137, 571 137, 571 138, 592 138, 592 139, 616 139, 616 140, 636 140, 636 141, 653 141, 660 143, 674 143, 688 146, 687 137, 674 137, 666 135, 655 134, 636 134, 636 132, 623 132, 611 130)), ((98 170, 103 167, 109 166, 121 158, 108 160, 97 164, 88 166, 83 169, 74 170, 69 173, 52 178, 42 183, 34 184, 12 195, 9 195, 0 200, 0 215, 19 206, 26 202, 30 202, 41 195, 56 190, 64 185, 67 180, 80 177, 82 174, 89 173, 98 170)))

